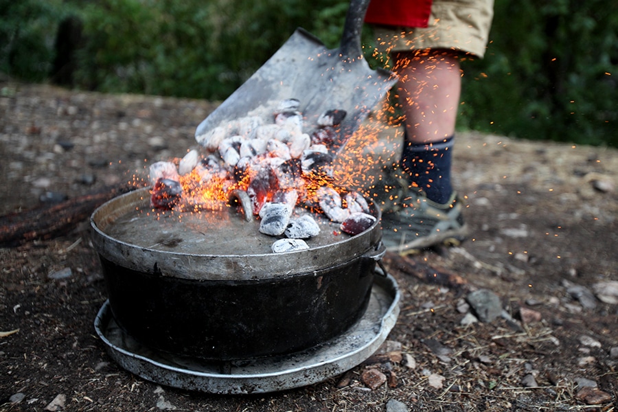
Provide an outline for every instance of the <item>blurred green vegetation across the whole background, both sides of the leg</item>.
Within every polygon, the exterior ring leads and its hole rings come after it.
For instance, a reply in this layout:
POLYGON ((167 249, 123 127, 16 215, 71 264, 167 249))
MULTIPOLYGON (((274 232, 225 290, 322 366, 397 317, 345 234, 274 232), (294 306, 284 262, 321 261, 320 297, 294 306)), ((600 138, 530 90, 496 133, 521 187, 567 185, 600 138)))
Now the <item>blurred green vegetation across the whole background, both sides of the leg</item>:
MULTIPOLYGON (((485 59, 464 62, 459 127, 618 146, 616 6, 496 1, 485 59)), ((0 0, 0 71, 78 89, 222 100, 296 27, 336 47, 346 10, 346 0, 0 0), (62 49, 67 43, 76 50, 62 49)), ((369 56, 370 30, 363 43, 369 56)))

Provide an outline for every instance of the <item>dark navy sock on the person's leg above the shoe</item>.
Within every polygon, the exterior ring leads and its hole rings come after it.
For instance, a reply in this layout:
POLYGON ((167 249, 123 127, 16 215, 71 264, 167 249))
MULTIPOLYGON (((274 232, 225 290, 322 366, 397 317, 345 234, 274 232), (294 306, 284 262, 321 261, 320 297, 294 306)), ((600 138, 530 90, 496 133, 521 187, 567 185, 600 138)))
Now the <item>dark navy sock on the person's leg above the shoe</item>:
POLYGON ((453 193, 450 184, 453 136, 430 144, 404 144, 401 166, 408 174, 410 185, 423 190, 435 203, 448 202, 453 193))

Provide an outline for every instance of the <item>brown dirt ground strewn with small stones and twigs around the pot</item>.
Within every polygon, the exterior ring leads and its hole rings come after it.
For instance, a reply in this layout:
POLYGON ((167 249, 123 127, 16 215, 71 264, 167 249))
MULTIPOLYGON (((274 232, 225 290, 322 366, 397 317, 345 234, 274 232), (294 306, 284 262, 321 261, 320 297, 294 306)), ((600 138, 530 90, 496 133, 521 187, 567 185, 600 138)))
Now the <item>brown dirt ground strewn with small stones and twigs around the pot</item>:
MULTIPOLYGON (((184 155, 214 107, 9 82, 0 91, 0 215, 120 185, 184 155)), ((595 287, 618 281, 617 155, 459 133, 455 185, 470 239, 407 259, 464 283, 392 267, 402 300, 389 341, 400 350, 279 393, 161 387, 115 364, 93 329, 106 288, 85 220, 65 236, 4 247, 0 410, 386 411, 391 401, 396 411, 396 400, 410 411, 614 411, 618 304, 610 287, 595 287), (462 325, 464 299, 479 288, 507 315, 462 325), (389 382, 369 389, 368 368, 389 382)))

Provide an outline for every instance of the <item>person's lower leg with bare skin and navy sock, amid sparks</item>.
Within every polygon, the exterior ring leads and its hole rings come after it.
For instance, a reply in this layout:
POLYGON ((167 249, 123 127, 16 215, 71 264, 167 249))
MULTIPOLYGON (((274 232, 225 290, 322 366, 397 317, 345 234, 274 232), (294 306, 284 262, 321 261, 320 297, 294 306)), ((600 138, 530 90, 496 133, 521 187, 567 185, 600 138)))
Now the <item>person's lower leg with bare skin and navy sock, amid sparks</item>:
POLYGON ((446 50, 400 52, 393 56, 405 114, 401 166, 409 184, 444 204, 453 192, 451 153, 461 94, 457 54, 446 50))

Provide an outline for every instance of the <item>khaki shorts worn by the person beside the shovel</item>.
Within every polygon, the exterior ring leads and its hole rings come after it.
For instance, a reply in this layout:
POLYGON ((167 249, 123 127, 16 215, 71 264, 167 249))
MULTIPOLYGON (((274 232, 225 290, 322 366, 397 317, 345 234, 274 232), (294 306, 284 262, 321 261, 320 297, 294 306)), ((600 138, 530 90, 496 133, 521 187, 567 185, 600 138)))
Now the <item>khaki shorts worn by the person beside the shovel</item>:
POLYGON ((451 49, 485 55, 494 0, 433 0, 428 27, 375 26, 381 52, 451 49))

